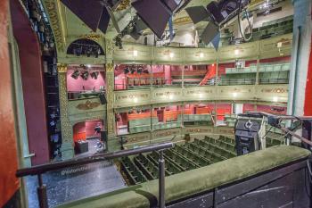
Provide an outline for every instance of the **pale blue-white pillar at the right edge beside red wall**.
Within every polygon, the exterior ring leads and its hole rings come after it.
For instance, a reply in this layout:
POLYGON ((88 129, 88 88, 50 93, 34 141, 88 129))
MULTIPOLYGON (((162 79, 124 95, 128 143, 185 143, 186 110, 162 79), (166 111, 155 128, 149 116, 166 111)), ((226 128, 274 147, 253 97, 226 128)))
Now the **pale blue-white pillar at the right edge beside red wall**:
MULTIPOLYGON (((293 37, 291 52, 291 73, 287 113, 304 115, 305 106, 311 106, 308 92, 311 93, 308 62, 311 47, 311 0, 293 0, 293 37)), ((311 63, 310 63, 311 64, 311 63)), ((310 65, 311 68, 311 65, 310 65)), ((308 109, 308 107, 306 107, 308 109)), ((308 113, 306 113, 308 114, 308 113)))

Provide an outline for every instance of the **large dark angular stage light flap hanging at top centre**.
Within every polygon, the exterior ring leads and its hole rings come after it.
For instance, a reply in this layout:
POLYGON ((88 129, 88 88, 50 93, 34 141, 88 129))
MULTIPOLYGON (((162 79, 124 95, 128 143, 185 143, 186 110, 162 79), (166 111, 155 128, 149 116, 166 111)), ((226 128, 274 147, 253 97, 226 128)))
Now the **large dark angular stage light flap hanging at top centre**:
POLYGON ((169 19, 191 0, 135 0, 131 4, 142 21, 161 38, 169 19))

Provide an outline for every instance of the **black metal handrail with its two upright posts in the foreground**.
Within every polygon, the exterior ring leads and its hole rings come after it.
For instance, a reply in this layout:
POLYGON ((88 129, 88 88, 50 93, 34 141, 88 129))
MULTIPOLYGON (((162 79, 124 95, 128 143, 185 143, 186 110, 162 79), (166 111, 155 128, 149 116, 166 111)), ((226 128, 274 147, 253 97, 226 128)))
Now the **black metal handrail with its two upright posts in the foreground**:
POLYGON ((160 160, 159 160, 159 206, 160 208, 165 207, 165 160, 164 157, 161 156, 162 151, 165 149, 172 148, 174 146, 173 143, 162 143, 162 144, 156 144, 152 146, 143 146, 138 147, 135 149, 130 150, 122 150, 122 151, 116 151, 112 153, 104 153, 104 154, 94 154, 92 156, 84 157, 84 158, 78 158, 78 159, 71 159, 64 162, 54 162, 54 163, 48 163, 48 164, 42 164, 33 166, 31 168, 24 168, 16 171, 16 177, 25 177, 25 176, 33 176, 37 175, 38 178, 38 187, 37 187, 37 195, 38 195, 38 202, 40 208, 47 208, 48 207, 48 201, 46 196, 46 186, 43 183, 42 174, 44 174, 47 171, 58 171, 63 168, 69 168, 72 166, 77 165, 83 165, 83 164, 89 164, 94 162, 104 162, 108 160, 117 159, 120 157, 126 157, 129 155, 134 154, 144 154, 149 153, 152 151, 160 151, 160 160))

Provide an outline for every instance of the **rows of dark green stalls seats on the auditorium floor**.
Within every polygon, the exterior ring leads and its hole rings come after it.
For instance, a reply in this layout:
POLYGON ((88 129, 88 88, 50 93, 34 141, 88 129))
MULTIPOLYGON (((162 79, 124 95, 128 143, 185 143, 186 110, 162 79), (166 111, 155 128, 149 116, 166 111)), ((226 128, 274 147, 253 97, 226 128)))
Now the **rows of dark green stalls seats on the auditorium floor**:
MULTIPOLYGON (((267 138, 267 147, 281 145, 276 139, 267 138)), ((195 138, 193 142, 175 146, 164 151, 165 175, 170 176, 182 171, 190 171, 235 157, 235 140, 231 137, 219 136, 195 138)), ((159 178, 160 154, 138 154, 133 158, 120 160, 120 171, 129 185, 137 185, 147 180, 159 178)))

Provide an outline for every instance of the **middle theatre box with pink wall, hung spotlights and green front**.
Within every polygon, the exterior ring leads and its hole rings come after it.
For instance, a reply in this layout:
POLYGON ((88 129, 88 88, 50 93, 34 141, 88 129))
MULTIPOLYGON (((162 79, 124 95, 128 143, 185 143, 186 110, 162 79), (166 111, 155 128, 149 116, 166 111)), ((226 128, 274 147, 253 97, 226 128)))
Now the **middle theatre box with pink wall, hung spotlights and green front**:
POLYGON ((105 71, 101 65, 70 65, 67 75, 68 115, 72 125, 103 120, 106 112, 105 71))

